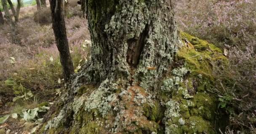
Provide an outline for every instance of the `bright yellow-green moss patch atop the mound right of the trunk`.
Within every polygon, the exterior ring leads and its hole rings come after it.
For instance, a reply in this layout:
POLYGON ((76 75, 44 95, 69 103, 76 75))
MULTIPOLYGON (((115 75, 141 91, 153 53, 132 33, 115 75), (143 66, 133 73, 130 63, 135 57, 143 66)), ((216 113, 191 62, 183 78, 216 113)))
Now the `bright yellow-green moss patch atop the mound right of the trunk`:
POLYGON ((227 63, 228 60, 223 56, 221 49, 209 44, 207 41, 197 39, 188 33, 181 32, 181 39, 190 41, 195 49, 183 47, 177 53, 177 59, 183 60, 185 66, 192 70, 193 75, 201 74, 210 80, 214 79, 212 74, 212 62, 221 61, 227 63))

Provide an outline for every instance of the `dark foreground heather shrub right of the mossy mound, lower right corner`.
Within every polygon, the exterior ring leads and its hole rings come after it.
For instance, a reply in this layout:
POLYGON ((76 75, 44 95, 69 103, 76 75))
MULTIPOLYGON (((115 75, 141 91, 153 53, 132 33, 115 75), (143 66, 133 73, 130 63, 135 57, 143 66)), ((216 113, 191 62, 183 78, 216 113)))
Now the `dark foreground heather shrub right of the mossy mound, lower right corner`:
MULTIPOLYGON (((256 54, 253 47, 229 51, 229 64, 214 67, 219 108, 229 114, 226 131, 256 133, 256 54)), ((216 64, 215 64, 216 65, 216 64)))

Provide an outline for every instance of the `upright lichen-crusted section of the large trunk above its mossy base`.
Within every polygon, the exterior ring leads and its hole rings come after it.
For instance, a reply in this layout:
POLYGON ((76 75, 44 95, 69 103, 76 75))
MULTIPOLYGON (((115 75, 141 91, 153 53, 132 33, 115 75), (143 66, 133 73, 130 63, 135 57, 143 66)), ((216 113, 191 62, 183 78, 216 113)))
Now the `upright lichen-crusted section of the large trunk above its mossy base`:
POLYGON ((179 46, 171 1, 87 0, 85 5, 99 79, 121 77, 154 87, 179 46))

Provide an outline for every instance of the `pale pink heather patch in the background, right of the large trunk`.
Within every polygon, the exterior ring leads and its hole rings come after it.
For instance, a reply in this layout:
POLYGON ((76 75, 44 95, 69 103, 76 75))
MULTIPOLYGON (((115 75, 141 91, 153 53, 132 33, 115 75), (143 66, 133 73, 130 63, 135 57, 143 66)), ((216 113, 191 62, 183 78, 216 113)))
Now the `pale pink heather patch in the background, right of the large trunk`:
POLYGON ((256 40, 255 0, 175 0, 179 27, 220 47, 256 40), (184 10, 185 9, 185 10, 184 10))

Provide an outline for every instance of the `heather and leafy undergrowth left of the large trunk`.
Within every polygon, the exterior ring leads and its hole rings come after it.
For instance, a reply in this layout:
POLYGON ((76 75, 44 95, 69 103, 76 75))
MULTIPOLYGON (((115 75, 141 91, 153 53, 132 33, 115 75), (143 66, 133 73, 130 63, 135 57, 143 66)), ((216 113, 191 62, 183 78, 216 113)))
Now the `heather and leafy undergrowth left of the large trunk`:
MULTIPOLYGON (((80 6, 70 4, 66 27, 75 72, 90 53, 90 34, 81 16, 80 6)), ((21 8, 16 44, 10 30, 7 23, 0 26, 0 114, 5 115, 0 134, 8 129, 33 132, 64 86, 50 9, 21 8), (6 124, 12 125, 3 128, 6 124)))

